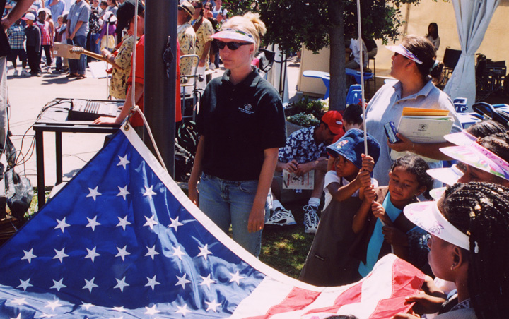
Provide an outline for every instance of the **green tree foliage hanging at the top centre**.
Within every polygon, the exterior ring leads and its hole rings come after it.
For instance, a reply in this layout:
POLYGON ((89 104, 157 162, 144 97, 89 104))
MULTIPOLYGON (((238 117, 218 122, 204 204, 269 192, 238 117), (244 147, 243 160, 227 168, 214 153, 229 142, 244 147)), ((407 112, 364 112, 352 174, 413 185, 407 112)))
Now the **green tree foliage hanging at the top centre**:
MULTIPOLYGON (((402 24, 399 7, 418 4, 420 0, 361 0, 363 35, 397 40, 398 28, 402 24)), ((267 26, 265 43, 277 43, 286 53, 296 52, 305 44, 317 52, 329 45, 330 28, 337 28, 337 19, 344 20, 344 34, 357 34, 356 0, 224 0, 232 14, 247 11, 259 12, 267 26), (330 16, 329 6, 343 1, 342 17, 330 16)))

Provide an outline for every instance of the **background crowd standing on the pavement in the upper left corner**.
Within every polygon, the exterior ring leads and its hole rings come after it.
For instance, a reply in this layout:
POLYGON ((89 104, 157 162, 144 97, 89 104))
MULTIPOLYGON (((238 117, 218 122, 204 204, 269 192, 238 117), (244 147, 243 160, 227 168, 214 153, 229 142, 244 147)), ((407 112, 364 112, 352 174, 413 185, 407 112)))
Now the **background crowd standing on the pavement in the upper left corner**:
MULTIPOLYGON (((113 51, 116 46, 115 14, 117 1, 77 0, 66 8, 63 0, 34 1, 21 20, 8 28, 13 64, 13 76, 42 76, 42 68, 52 73, 52 68, 67 73, 69 78, 86 78, 87 57, 62 59, 53 56, 55 42, 83 47, 90 52, 101 53, 103 48, 113 51), (45 59, 42 59, 44 54, 45 59), (18 71, 17 61, 22 69, 18 71), (26 66, 30 68, 27 71, 26 66), (44 67, 45 66, 45 67, 44 67)), ((124 2, 122 0, 122 2, 124 2)), ((6 4, 4 14, 16 7, 16 2, 6 4)))

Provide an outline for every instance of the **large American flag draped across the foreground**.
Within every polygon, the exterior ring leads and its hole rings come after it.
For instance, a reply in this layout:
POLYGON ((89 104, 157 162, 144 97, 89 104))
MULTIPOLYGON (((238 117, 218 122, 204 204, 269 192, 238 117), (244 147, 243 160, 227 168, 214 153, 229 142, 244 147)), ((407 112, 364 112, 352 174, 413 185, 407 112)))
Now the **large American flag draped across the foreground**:
POLYGON ((356 284, 264 265, 122 129, 0 248, 0 318, 390 318, 423 274, 388 255, 356 284), (394 275, 395 274, 395 275, 394 275))

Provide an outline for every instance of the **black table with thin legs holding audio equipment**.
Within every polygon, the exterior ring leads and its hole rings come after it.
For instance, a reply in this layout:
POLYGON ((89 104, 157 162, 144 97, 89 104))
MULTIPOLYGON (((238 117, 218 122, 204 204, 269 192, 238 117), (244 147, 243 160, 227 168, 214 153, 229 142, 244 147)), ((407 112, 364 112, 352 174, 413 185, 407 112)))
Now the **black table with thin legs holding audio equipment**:
MULTIPOLYGON (((107 126, 93 124, 92 121, 67 121, 71 108, 71 99, 57 97, 42 108, 41 113, 33 124, 35 131, 35 153, 37 156, 37 200, 39 209, 46 203, 45 198, 45 169, 44 169, 44 132, 55 133, 57 184, 62 183, 62 133, 115 133, 119 125, 107 126)), ((123 100, 92 100, 93 102, 124 104, 123 100)))

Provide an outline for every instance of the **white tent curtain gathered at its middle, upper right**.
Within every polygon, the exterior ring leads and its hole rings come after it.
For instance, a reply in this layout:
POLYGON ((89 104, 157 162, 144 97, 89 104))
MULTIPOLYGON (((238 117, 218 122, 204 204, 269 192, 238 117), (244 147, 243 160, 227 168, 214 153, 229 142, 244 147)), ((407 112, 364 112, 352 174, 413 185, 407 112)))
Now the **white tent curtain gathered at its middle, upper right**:
POLYGON ((475 52, 479 49, 500 0, 452 0, 462 54, 445 85, 452 100, 467 97, 469 111, 475 102, 475 52))

